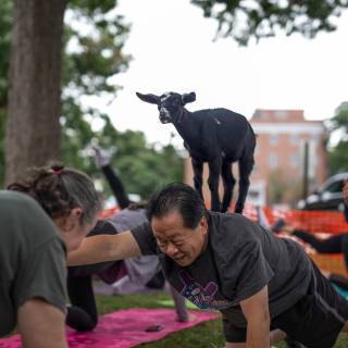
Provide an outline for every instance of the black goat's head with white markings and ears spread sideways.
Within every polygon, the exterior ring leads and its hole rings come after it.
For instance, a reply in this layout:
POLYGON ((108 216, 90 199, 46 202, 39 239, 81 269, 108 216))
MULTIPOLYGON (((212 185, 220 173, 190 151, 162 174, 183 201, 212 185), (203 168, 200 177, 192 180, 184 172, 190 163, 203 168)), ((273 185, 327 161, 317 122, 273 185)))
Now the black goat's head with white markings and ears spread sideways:
POLYGON ((173 91, 166 92, 162 96, 141 95, 137 96, 145 102, 157 104, 160 111, 160 121, 162 123, 181 123, 184 115, 184 105, 196 100, 196 94, 179 95, 173 91))

